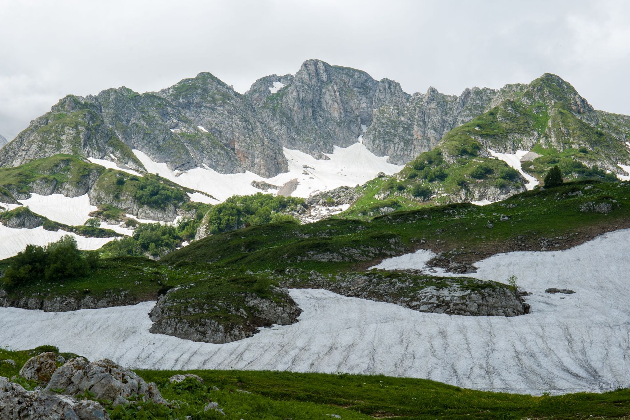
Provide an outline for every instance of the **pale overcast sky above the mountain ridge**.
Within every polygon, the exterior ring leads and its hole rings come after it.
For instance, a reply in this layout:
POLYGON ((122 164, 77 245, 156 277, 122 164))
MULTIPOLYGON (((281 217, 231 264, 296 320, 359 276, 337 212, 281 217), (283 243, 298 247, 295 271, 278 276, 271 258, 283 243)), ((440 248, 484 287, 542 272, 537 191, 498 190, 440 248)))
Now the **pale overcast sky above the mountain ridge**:
POLYGON ((629 17, 628 2, 575 0, 0 0, 0 134, 69 93, 154 91, 202 71, 243 93, 312 58, 409 93, 553 72, 595 108, 630 114, 629 17))

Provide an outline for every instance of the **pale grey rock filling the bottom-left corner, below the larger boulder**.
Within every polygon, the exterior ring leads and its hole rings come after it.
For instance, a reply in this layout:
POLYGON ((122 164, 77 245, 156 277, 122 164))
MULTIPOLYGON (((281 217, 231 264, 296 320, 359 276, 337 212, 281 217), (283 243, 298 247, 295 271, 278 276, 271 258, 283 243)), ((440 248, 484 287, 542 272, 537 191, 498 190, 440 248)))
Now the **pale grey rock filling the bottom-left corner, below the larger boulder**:
POLYGON ((96 401, 77 401, 67 395, 27 391, 8 378, 0 377, 0 417, 29 420, 107 420, 105 409, 96 401))

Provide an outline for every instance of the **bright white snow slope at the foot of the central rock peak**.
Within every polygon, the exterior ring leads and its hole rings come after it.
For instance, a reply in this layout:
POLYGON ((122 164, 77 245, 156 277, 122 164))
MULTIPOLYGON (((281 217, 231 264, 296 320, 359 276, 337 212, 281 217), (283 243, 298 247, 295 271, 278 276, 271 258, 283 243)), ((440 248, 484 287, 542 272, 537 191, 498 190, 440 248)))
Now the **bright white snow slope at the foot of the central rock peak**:
MULTIPOLYGON (((220 201, 232 195, 261 192, 262 190, 251 185, 252 181, 263 181, 277 186, 277 189, 266 191, 277 193, 284 184, 295 179, 297 186, 295 190, 289 191, 290 195, 307 197, 317 191, 363 184, 375 178, 379 172, 394 174, 403 169, 403 166, 387 163, 387 156, 375 156, 359 142, 349 147, 335 147, 333 153, 326 154, 329 160, 315 159, 299 150, 284 149, 284 155, 289 162, 289 172, 273 178, 262 178, 251 172, 220 174, 210 168, 200 167, 186 172, 173 172, 165 163, 151 161, 140 150, 134 150, 134 153, 150 173, 159 173, 164 178, 193 190, 208 193, 220 201)), ((191 198, 200 199, 193 195, 191 198)))

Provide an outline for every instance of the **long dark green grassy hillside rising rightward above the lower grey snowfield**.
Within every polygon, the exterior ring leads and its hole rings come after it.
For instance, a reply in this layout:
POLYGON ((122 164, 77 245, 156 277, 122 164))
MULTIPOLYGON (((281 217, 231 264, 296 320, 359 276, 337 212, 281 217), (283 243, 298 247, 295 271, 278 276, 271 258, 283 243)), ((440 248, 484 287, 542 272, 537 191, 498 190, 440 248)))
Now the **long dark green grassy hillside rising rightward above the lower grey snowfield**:
POLYGON ((459 203, 393 212, 369 222, 337 218, 307 225, 249 227, 193 242, 169 254, 163 262, 206 261, 231 267, 244 264, 252 271, 292 266, 334 273, 355 270, 419 247, 436 252, 463 249, 482 259, 498 252, 541 249, 542 237, 566 237, 557 240, 564 246, 578 239, 585 241, 589 232, 626 227, 629 212, 627 183, 580 181, 527 191, 484 207, 459 203), (576 191, 581 194, 573 195, 576 191), (610 213, 580 210, 584 203, 602 201, 614 203, 610 213), (501 215, 510 219, 501 222, 501 215), (488 222, 493 228, 488 228, 488 222), (317 261, 325 253, 336 253, 340 258, 317 261))

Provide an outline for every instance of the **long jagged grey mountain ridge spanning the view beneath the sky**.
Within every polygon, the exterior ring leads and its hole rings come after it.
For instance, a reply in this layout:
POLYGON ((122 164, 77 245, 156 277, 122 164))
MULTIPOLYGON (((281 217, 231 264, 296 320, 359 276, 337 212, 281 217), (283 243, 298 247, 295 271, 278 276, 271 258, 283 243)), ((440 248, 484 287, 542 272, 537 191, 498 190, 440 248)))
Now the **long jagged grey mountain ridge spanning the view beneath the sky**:
POLYGON ((434 88, 410 95, 397 82, 315 59, 294 75, 262 77, 245 94, 202 72, 156 93, 66 96, 0 149, 0 166, 66 153, 144 171, 132 152, 139 149, 171 169, 273 176, 287 170, 283 147, 326 159, 322 152, 360 135, 377 156, 404 164, 481 115, 491 124, 458 133, 498 152, 587 147, 591 156, 578 160, 588 167, 622 173, 617 164, 630 164, 630 117, 593 110, 553 74, 459 96, 434 88))

